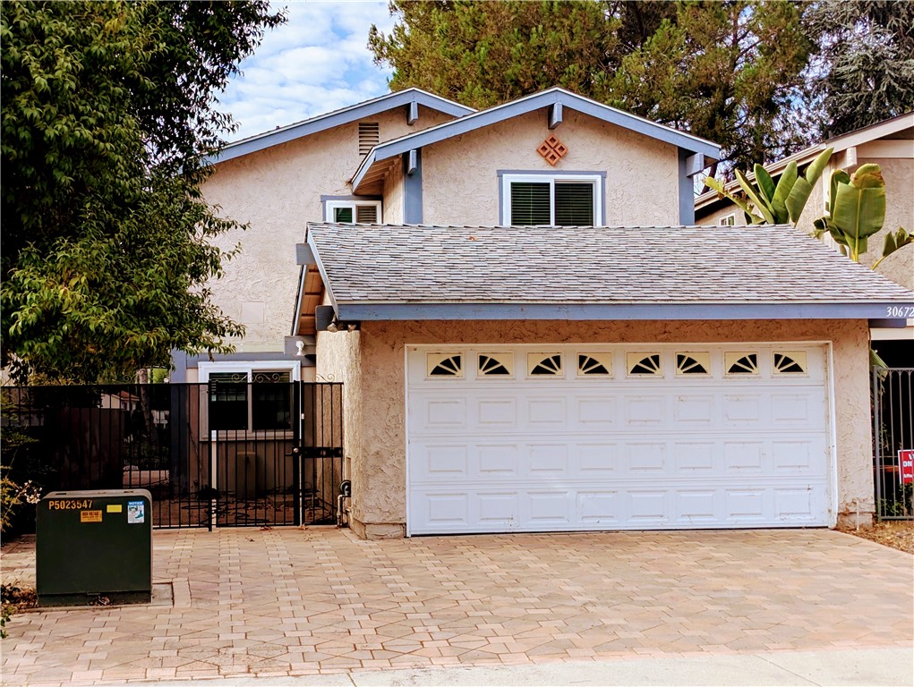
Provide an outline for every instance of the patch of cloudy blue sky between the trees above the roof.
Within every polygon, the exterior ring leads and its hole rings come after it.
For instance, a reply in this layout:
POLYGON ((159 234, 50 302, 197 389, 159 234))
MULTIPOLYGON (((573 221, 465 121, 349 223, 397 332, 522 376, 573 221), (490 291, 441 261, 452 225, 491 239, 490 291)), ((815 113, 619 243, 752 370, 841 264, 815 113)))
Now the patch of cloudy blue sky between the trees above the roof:
POLYGON ((389 71, 367 49, 372 24, 388 33, 387 2, 302 0, 287 7, 289 21, 267 33, 241 64, 220 100, 239 130, 230 141, 300 122, 388 92, 389 71))

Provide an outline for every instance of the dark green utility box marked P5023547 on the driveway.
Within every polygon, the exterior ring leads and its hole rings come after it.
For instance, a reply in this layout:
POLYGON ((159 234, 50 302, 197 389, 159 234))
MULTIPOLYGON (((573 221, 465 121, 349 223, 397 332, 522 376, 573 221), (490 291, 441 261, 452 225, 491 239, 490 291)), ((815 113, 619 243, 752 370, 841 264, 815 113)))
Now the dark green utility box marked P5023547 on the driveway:
POLYGON ((38 504, 38 606, 148 603, 153 497, 144 489, 52 491, 38 504))

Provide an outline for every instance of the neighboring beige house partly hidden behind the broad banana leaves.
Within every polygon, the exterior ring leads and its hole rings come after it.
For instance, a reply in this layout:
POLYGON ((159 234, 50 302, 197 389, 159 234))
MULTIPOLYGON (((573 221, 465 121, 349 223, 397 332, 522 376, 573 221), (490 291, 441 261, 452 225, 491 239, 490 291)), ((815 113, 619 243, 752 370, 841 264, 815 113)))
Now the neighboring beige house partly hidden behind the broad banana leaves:
MULTIPOLYGON (((852 174, 861 164, 878 164, 886 180, 887 208, 883 230, 869 238, 869 250, 862 257, 866 264, 872 265, 882 254, 886 232, 895 231, 898 227, 914 230, 914 112, 836 136, 765 168, 777 179, 787 164, 796 162, 802 170, 825 148, 834 148, 832 159, 815 185, 797 228, 812 233, 813 220, 825 214, 828 182, 834 170, 843 169, 852 174)), ((754 180, 754 176, 749 176, 754 180)), ((737 191, 739 185, 733 182, 728 185, 728 190, 737 191)), ((696 198, 696 222, 700 224, 732 226, 745 221, 739 207, 727 198, 718 197, 714 191, 696 198)), ((827 241, 831 244, 830 239, 827 241)), ((914 289, 914 246, 899 249, 883 260, 877 270, 905 288, 914 289)), ((911 353, 914 350, 914 318, 909 318, 908 324, 900 329, 877 326, 871 332, 873 347, 889 365, 914 364, 914 354, 911 353)))

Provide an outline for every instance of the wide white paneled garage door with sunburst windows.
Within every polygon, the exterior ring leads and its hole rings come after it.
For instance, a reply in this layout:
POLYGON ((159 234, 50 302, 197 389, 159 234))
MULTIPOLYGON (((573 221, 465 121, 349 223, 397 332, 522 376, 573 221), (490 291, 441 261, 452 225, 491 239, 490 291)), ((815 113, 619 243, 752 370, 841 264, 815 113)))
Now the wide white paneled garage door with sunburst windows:
POLYGON ((829 523, 822 346, 407 356, 409 534, 829 523))

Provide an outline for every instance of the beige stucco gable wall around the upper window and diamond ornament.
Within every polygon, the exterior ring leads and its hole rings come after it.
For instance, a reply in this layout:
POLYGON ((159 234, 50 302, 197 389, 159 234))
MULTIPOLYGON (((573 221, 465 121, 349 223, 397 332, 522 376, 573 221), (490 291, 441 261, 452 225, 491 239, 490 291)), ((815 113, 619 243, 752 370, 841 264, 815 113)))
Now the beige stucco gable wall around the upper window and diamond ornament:
POLYGON ((553 131, 544 109, 426 146, 423 222, 500 224, 498 170, 605 172, 603 224, 679 223, 675 146, 568 109, 553 131), (552 134, 569 148, 555 166, 537 153, 552 134))

